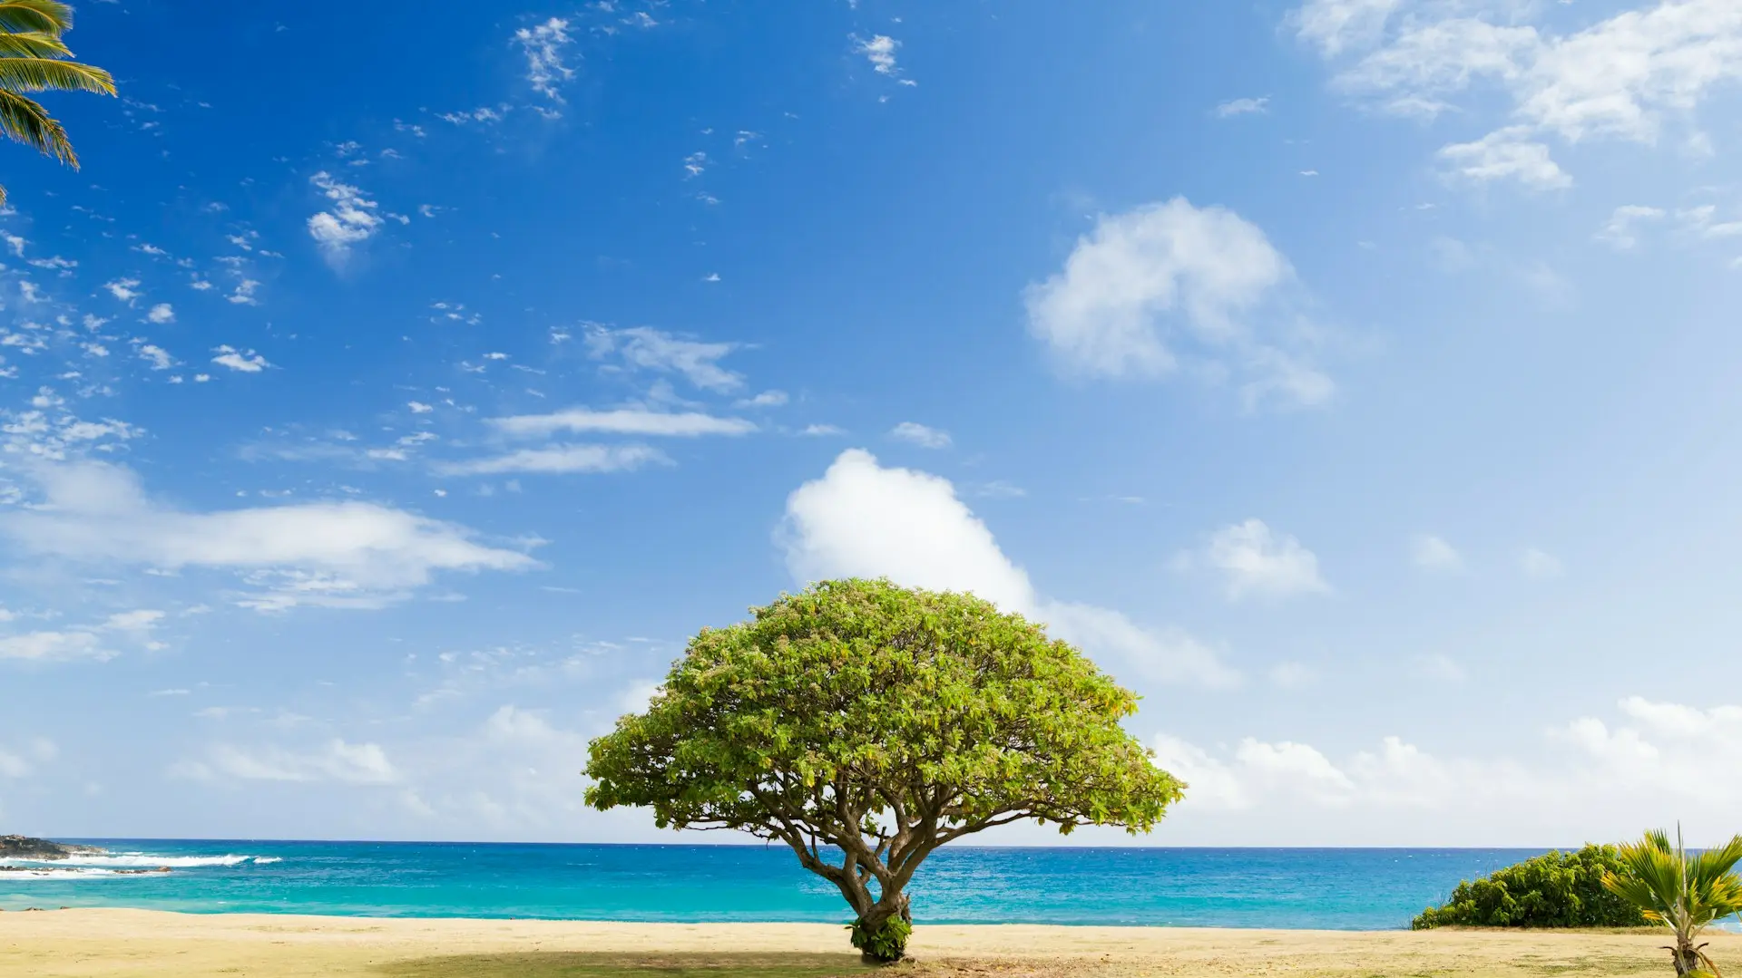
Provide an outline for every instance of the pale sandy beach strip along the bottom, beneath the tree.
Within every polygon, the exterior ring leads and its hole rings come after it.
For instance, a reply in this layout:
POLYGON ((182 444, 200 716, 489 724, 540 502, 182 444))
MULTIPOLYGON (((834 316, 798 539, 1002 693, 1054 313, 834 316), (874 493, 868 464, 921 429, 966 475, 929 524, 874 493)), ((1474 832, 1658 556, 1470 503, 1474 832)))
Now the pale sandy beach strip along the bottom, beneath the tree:
MULTIPOLYGON (((1709 952, 1742 969, 1742 936, 1709 952)), ((1674 975, 1655 933, 1235 931, 920 926, 908 975, 1583 976, 1674 975)), ((580 964, 801 964, 857 971, 827 924, 610 924, 183 915, 152 910, 0 914, 0 976, 303 978, 577 975, 580 964), (573 957, 575 952, 601 959, 573 957), (472 955, 458 962, 446 957, 472 955), (697 955, 697 957, 685 957, 697 955), (827 957, 819 957, 827 955, 827 957)))

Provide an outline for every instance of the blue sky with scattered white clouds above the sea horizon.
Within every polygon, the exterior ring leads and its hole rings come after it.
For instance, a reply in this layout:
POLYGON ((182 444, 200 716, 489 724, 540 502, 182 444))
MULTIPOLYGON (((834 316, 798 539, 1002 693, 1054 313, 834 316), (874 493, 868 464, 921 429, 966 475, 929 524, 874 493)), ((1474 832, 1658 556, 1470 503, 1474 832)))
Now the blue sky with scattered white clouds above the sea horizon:
POLYGON ((1733 2, 347 17, 84 3, 9 150, 0 828, 667 839, 585 741, 838 574, 1158 844, 1737 828, 1733 2))

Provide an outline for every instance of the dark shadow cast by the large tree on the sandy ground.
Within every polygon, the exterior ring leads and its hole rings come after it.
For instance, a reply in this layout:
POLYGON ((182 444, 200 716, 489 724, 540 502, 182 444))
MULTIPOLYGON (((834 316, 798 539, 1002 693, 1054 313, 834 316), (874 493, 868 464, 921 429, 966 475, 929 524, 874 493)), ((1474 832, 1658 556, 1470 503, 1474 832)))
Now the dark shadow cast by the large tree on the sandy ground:
POLYGON ((519 950, 383 964, 388 978, 864 978, 857 954, 598 954, 519 950))

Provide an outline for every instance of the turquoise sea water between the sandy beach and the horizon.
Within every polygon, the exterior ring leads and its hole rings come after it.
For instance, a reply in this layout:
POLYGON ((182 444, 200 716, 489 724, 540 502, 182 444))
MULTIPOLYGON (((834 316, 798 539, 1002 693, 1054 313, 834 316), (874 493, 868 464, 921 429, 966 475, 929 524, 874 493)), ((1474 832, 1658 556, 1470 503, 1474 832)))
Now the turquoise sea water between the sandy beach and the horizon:
MULTIPOLYGON (((73 875, 0 872, 0 908, 195 914, 826 921, 847 907, 786 849, 89 841, 73 875), (169 865, 169 874, 120 874, 169 865)), ((1540 849, 942 849, 920 922, 1385 929, 1540 849)), ((3 861, 0 861, 3 865, 3 861)), ((12 863, 17 867, 19 863, 12 863)), ((68 865, 68 863, 57 863, 68 865)))

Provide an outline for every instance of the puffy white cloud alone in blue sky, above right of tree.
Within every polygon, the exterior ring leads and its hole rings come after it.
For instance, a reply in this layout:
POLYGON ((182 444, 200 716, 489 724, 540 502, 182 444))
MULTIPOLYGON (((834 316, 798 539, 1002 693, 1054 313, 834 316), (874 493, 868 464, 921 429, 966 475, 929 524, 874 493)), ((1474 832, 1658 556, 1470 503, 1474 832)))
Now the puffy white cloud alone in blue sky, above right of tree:
POLYGON ((1162 376, 1179 365, 1176 338, 1195 339, 1212 371, 1233 358, 1249 399, 1320 404, 1331 381, 1275 345, 1247 315, 1277 298, 1294 271, 1252 223, 1185 198, 1103 214, 1064 268, 1024 291, 1030 331, 1070 371, 1162 376))

